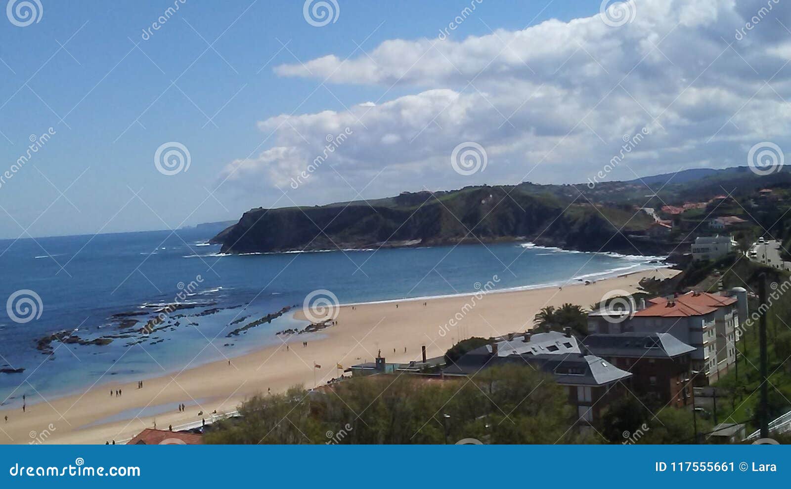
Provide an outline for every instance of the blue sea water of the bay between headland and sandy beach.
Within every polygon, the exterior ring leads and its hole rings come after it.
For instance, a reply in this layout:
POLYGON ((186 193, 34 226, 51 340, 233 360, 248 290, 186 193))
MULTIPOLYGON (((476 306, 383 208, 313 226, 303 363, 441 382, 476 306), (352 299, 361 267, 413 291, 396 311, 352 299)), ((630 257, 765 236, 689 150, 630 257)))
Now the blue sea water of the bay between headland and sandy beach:
POLYGON ((7 307, 0 308, 0 367, 25 369, 0 374, 0 403, 21 404, 23 394, 32 403, 101 383, 134 382, 279 344, 276 332, 307 323, 289 312, 237 337, 226 335, 282 307, 301 307, 317 289, 331 291, 340 303, 361 303, 476 292, 495 275, 496 289, 504 290, 657 267, 656 257, 520 243, 231 256, 206 244, 214 231, 0 241, 0 307, 20 290, 35 292, 41 301, 40 308, 34 301, 29 322, 15 322, 7 307), (185 287, 191 283, 198 287, 185 287), (196 307, 173 311, 170 327, 142 343, 134 341, 139 334, 118 337, 122 328, 113 314, 146 312, 131 318, 138 319, 138 329, 157 307, 172 303, 196 307), (116 338, 107 345, 55 341, 54 354, 36 349, 37 340, 60 331, 81 340, 116 338))

